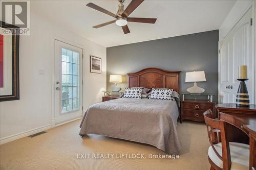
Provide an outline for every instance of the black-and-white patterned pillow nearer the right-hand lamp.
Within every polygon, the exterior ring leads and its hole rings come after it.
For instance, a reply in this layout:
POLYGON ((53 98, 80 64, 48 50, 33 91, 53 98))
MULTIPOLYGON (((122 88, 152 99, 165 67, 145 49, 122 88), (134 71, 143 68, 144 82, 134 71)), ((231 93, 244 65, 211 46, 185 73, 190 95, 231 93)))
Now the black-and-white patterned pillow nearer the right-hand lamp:
POLYGON ((149 99, 172 100, 173 89, 153 88, 149 99))

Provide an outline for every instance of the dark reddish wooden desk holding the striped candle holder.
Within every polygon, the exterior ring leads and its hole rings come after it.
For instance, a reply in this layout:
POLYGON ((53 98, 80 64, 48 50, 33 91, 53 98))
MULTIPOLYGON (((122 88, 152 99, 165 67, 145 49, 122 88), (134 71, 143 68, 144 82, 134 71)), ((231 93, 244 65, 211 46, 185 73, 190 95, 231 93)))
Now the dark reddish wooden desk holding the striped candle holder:
POLYGON ((218 104, 218 118, 229 123, 229 141, 250 144, 250 169, 256 167, 256 105, 249 108, 236 107, 236 104, 218 104), (224 113, 223 113, 224 112, 224 113), (250 140, 249 140, 250 139, 250 140))

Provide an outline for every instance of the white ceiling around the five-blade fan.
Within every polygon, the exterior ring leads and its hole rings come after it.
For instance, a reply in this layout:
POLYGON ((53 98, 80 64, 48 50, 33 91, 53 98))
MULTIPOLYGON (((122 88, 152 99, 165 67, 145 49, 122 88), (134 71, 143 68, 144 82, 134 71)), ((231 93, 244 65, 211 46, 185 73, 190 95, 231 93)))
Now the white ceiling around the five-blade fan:
MULTIPOLYGON (((114 17, 86 5, 92 2, 116 13, 118 1, 32 1, 31 10, 67 27, 89 40, 105 47, 147 40, 217 30, 236 1, 144 1, 130 17, 157 18, 156 23, 129 22, 131 31, 123 34, 122 28, 111 25, 94 29, 95 25, 114 20, 114 17)), ((131 2, 126 0, 124 8, 131 2)))

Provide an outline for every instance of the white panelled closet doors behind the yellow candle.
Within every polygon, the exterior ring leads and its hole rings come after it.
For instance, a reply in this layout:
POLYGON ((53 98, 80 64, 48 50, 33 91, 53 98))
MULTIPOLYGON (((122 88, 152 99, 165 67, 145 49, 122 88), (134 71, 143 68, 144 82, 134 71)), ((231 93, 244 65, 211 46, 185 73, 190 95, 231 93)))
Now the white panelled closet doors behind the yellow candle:
POLYGON ((240 65, 248 66, 246 81, 250 103, 254 101, 254 60, 252 56, 252 8, 239 20, 236 26, 220 42, 219 83, 220 102, 236 103, 236 95, 240 81, 238 68, 240 65))

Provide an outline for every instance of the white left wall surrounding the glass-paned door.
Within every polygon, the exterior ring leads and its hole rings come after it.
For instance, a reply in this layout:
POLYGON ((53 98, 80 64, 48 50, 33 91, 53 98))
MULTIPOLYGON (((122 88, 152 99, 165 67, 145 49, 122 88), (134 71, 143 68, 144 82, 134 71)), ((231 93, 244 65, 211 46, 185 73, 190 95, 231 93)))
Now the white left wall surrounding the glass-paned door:
POLYGON ((54 38, 83 47, 83 106, 101 101, 106 88, 106 48, 31 11, 30 36, 20 36, 20 100, 0 102, 0 142, 49 129, 54 123, 54 38), (90 73, 90 55, 102 58, 102 74, 90 73), (39 69, 45 75, 39 75, 39 69))

